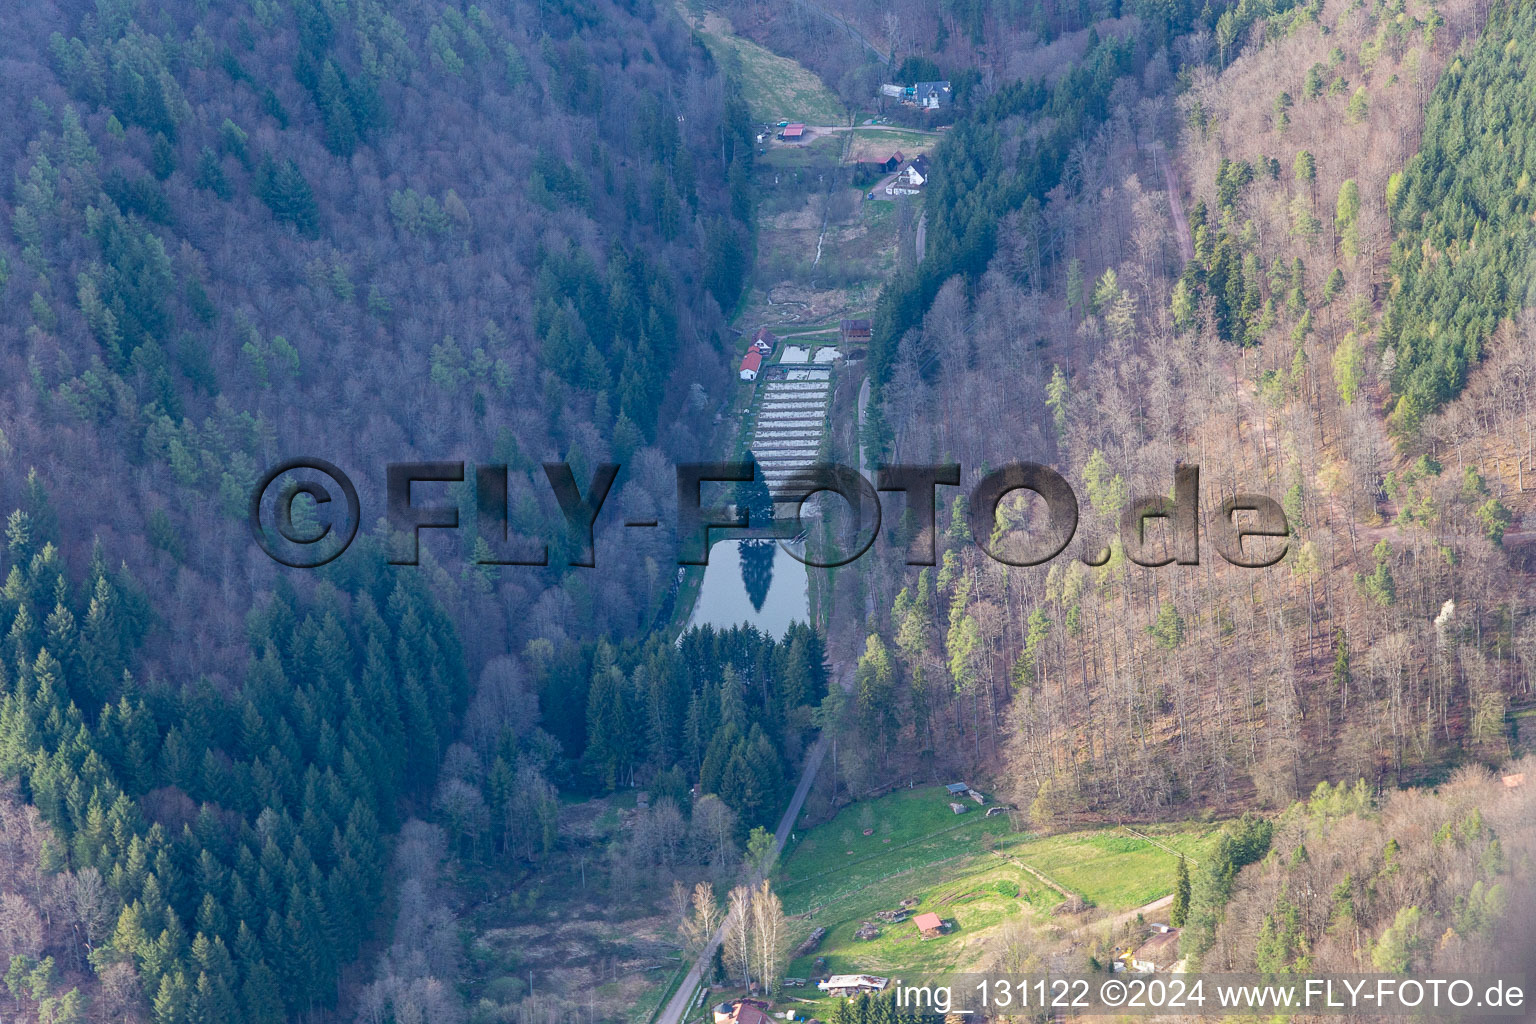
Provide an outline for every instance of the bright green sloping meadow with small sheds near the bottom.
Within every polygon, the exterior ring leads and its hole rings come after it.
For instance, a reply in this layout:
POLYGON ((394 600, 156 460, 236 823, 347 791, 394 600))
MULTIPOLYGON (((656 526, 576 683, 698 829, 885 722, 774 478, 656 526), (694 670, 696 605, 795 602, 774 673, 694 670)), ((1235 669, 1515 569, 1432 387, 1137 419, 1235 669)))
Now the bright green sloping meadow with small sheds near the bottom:
MULTIPOLYGON (((1220 823, 1135 826, 1152 841, 1118 827, 1032 837, 1014 832, 1008 815, 985 817, 969 800, 963 801, 968 811, 955 815, 949 801, 942 786, 902 789, 796 834, 774 889, 788 913, 802 915, 793 921, 794 944, 816 927, 826 935, 816 950, 790 963, 790 976, 972 969, 985 955, 985 940, 1003 924, 1044 923, 1061 903, 1021 864, 1092 900, 1100 912, 1117 913, 1172 892, 1177 854, 1197 861, 1207 857, 1221 829, 1220 823), (892 924, 877 917, 903 900, 915 900, 914 915, 937 913, 949 930, 923 940, 911 918, 892 924), (854 938, 866 923, 876 935, 854 938), (826 958, 820 970, 817 956, 826 958)), ((805 999, 814 992, 794 995, 805 999)), ((803 1009, 825 1019, 833 1006, 817 999, 803 1009)))

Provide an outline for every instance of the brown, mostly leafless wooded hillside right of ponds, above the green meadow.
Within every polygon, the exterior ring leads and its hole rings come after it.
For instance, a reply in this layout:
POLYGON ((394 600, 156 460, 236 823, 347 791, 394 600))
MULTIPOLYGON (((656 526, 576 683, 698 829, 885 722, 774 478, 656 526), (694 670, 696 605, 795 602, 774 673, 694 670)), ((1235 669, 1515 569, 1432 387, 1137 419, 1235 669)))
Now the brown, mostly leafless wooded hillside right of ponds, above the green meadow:
MULTIPOLYGON (((972 545, 963 500, 940 491, 938 571, 903 573, 891 554, 868 577, 888 611, 857 720, 879 709, 886 725, 846 758, 852 791, 894 766, 1005 755, 1003 777, 1048 823, 1190 801, 1284 806, 1319 778, 1407 783, 1510 751, 1536 649, 1516 533, 1528 327, 1505 319, 1524 295, 1511 282, 1528 287, 1524 216, 1478 227, 1479 266, 1505 278, 1490 284, 1493 306, 1462 289, 1459 309, 1499 375, 1475 375, 1479 405, 1447 407, 1455 442, 1436 419, 1393 444, 1404 345, 1430 329, 1402 329, 1396 364, 1381 342, 1427 287, 1389 279, 1401 253, 1421 252, 1409 235, 1392 258, 1389 204, 1407 210, 1405 189, 1433 195, 1413 184, 1425 112, 1430 140, 1471 123, 1475 104, 1508 103, 1439 71, 1504 66, 1518 43, 1501 25, 1524 17, 1511 11, 1459 55, 1481 29, 1476 5, 1269 6, 1241 48, 1197 32, 1177 48, 1183 66, 1150 54, 1126 68, 1137 78, 1112 84, 1103 124, 1035 201, 994 193, 1008 178, 986 157, 1006 160, 1028 120, 1001 121, 1006 134, 957 126, 935 150, 935 166, 972 152, 991 173, 926 197, 932 301, 877 321, 915 324, 888 336, 883 453, 968 473, 1052 462, 1083 520, 1049 565, 1003 567, 972 545), (1177 120, 1161 86, 1180 94, 1177 120), (968 213, 988 195, 998 210, 968 213), (946 221, 995 230, 995 243, 951 250, 946 221), (946 263, 952 252, 980 263, 946 263), (1501 424, 1496 445, 1476 441, 1478 422, 1501 424), (1163 557, 1164 540, 1124 551, 1120 513, 1167 494, 1180 464, 1201 467, 1207 524, 1235 491, 1278 500, 1293 531, 1284 560, 1227 567, 1207 534, 1198 567, 1132 563, 1163 557), (1083 563, 1104 545, 1107 565, 1083 563)), ((1487 146, 1498 138, 1490 127, 1487 146)), ((1504 195, 1484 190, 1496 181, 1468 195, 1504 195)), ((1438 244, 1422 249, 1425 267, 1438 244)), ((899 282, 885 309, 903 295, 899 282)), ((1040 522, 1038 502, 1003 514, 991 542, 1005 550, 1011 530, 1040 522)))

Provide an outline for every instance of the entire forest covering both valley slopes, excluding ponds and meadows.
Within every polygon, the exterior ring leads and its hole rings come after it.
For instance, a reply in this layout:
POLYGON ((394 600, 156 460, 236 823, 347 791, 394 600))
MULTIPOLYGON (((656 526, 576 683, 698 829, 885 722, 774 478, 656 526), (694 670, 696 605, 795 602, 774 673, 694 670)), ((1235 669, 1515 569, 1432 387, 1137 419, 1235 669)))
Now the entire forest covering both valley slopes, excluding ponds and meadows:
MULTIPOLYGON (((802 821, 951 777, 1037 832, 1232 818, 1183 874, 1204 969, 1528 947, 1530 788, 1485 766, 1528 749, 1536 700, 1530 5, 49 0, 3 23, 8 1013, 596 1019, 531 964, 593 947, 617 986, 631 921, 630 975, 702 953, 710 886, 773 867, 819 734, 802 821), (980 550, 1040 502, 974 537, 943 488, 938 565, 903 563, 891 514, 817 579, 816 625, 679 626, 670 531, 621 524, 667 520, 674 464, 733 442, 740 310, 777 266, 759 206, 814 177, 825 235, 876 180, 829 147, 785 163, 691 31, 707 6, 849 118, 932 129, 897 215, 925 241, 837 368, 869 384, 856 444, 966 485, 1054 465, 1081 502, 1060 559, 980 550), (940 77, 940 114, 877 94, 940 77), (361 493, 358 543, 313 573, 244 522, 296 454, 361 493), (462 528, 392 565, 384 465, 430 459, 507 467, 505 536, 439 484, 462 528), (622 464, 601 571, 573 565, 550 461, 582 490, 622 464), (1206 557, 1144 568, 1172 540, 1123 514, 1190 464, 1206 557), (1238 493, 1284 508, 1273 568, 1215 557, 1238 493), (548 565, 498 547, 530 540, 548 565), (499 989, 472 981, 488 964, 499 989)), ((743 557, 759 609, 773 551, 743 557)), ((766 884, 725 912, 783 926, 766 884)), ((733 978, 782 960, 759 944, 733 978)))

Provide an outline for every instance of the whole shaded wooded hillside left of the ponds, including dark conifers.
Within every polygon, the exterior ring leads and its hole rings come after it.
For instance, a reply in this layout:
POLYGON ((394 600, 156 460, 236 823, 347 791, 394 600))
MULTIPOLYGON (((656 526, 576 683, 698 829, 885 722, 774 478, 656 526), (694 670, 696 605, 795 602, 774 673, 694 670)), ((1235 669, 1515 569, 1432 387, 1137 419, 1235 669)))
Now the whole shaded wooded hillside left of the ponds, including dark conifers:
POLYGON ((753 246, 745 106, 645 2, 3 21, 0 775, 40 814, 6 860, 8 999, 313 1018, 381 933, 395 829, 461 806, 456 737, 499 766, 498 849, 541 849, 565 755, 516 657, 473 702, 472 669, 668 596, 662 539, 571 574, 538 464, 585 488, 625 462, 610 504, 654 514, 702 453, 753 246), (475 565, 468 520, 419 570, 372 536, 283 570, 244 514, 296 454, 352 474, 364 534, 386 462, 505 464, 551 565, 475 565))

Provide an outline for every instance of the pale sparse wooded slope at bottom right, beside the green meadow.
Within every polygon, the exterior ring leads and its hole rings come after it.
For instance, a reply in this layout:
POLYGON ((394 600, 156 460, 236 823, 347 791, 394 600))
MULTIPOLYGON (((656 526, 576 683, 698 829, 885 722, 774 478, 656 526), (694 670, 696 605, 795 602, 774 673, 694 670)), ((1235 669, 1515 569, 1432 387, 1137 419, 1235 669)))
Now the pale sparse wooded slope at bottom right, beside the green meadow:
POLYGON ((1530 789, 1507 791, 1481 769, 1381 800, 1364 786, 1319 786, 1235 880, 1197 872, 1181 953, 1204 970, 1518 969, 1531 943, 1519 912, 1530 823, 1530 789))

